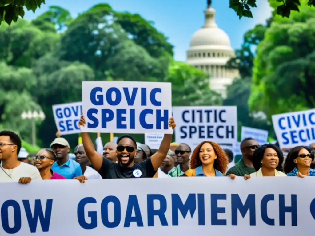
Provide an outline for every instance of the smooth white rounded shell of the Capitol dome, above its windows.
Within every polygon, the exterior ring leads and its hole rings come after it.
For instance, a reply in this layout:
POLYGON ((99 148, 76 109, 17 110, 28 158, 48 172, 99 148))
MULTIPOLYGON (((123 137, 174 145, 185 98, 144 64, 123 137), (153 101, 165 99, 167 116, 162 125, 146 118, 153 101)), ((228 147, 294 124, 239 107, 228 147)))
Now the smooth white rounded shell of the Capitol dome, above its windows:
POLYGON ((192 35, 190 47, 220 45, 231 47, 230 38, 220 28, 201 28, 192 35))

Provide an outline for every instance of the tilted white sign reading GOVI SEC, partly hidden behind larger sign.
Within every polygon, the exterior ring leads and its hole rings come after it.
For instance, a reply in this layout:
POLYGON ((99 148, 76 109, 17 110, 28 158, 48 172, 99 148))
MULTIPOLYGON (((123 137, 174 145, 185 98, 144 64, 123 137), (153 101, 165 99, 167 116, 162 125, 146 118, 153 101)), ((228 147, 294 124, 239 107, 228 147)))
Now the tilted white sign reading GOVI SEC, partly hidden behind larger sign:
POLYGON ((54 120, 61 135, 80 133, 82 102, 53 105, 54 120))

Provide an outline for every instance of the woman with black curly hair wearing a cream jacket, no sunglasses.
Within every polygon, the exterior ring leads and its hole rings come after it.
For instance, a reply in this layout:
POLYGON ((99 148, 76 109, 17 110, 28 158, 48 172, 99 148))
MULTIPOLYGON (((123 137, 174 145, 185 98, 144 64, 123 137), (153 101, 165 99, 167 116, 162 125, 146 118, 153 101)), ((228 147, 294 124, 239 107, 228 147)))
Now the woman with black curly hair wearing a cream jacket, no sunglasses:
POLYGON ((261 145, 253 154, 253 166, 256 172, 245 175, 244 178, 287 176, 282 172, 283 160, 283 153, 278 146, 272 143, 261 145))

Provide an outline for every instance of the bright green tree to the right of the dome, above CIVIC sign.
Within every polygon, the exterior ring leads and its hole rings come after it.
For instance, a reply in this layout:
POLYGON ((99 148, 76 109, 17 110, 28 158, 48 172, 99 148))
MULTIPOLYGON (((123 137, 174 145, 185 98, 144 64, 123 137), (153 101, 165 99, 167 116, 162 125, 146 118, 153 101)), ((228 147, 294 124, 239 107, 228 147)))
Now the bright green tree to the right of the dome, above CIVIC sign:
POLYGON ((315 106, 315 8, 275 17, 257 47, 249 105, 272 114, 315 106))

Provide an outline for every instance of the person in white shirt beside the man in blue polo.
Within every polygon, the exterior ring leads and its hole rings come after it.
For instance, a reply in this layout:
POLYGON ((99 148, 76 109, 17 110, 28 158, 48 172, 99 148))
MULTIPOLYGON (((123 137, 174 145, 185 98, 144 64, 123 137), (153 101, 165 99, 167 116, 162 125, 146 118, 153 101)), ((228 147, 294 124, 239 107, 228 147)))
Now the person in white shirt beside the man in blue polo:
MULTIPOLYGON (((74 154, 76 155, 75 160, 80 164, 82 173, 86 179, 102 179, 100 174, 95 171, 91 166, 89 158, 86 156, 83 144, 77 145, 74 149, 74 154)), ((77 177, 75 177, 76 179, 77 177)))

